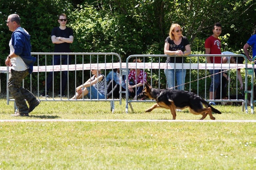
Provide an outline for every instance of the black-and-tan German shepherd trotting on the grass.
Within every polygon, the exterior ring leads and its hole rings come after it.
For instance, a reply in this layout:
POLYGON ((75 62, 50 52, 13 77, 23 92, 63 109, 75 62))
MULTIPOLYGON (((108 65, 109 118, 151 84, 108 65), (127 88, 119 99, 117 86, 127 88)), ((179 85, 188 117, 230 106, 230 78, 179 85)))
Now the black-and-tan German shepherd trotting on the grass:
POLYGON ((172 89, 155 89, 150 86, 148 82, 144 83, 144 89, 141 96, 147 96, 148 98, 155 99, 156 104, 150 107, 146 112, 151 112, 155 108, 170 109, 172 113, 172 120, 176 119, 176 109, 189 108, 189 112, 193 114, 201 114, 203 120, 207 114, 209 114, 212 120, 215 117, 212 116, 212 112, 221 114, 220 111, 213 108, 202 97, 195 93, 184 90, 172 90, 172 89), (203 104, 205 107, 203 107, 203 104))

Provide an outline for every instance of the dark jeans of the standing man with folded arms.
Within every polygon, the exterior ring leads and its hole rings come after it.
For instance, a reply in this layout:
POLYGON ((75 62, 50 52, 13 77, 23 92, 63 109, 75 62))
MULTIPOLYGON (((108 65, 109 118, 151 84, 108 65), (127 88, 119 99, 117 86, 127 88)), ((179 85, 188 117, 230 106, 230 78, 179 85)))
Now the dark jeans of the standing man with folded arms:
MULTIPOLYGON (((52 65, 56 66, 56 65, 60 65, 60 61, 61 61, 61 65, 70 65, 71 63, 71 57, 67 56, 67 55, 53 55, 53 59, 52 59, 52 65)), ((56 72, 54 73, 55 76, 56 72)), ((49 89, 52 87, 52 81, 53 81, 53 72, 50 72, 47 76, 46 79, 46 90, 49 91, 49 89)), ((67 86, 67 81, 68 81, 68 71, 61 71, 61 84, 60 84, 60 92, 63 94, 66 86, 67 86)))

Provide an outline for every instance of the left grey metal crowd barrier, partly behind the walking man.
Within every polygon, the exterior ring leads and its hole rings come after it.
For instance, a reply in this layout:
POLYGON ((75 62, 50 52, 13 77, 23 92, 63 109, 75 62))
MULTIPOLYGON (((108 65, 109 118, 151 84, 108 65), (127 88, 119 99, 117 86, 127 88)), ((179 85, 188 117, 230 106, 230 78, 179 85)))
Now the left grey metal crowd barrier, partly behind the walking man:
MULTIPOLYGON (((91 69, 101 69, 102 74, 104 74, 105 78, 110 71, 113 71, 114 68, 121 68, 121 62, 117 63, 116 61, 121 61, 121 57, 116 54, 116 53, 31 53, 32 56, 37 58, 37 62, 34 64, 33 67, 33 73, 30 74, 30 91, 35 94, 35 96, 41 100, 41 101, 110 101, 110 110, 114 112, 115 101, 119 101, 120 105, 122 104, 122 93, 120 93, 120 98, 119 99, 114 99, 112 96, 112 99, 99 99, 99 96, 97 96, 97 99, 92 99, 91 96, 90 98, 83 97, 82 99, 70 99, 70 94, 75 94, 76 92, 76 87, 83 84, 87 79, 92 77, 91 69), (65 56, 67 55, 68 59, 72 58, 72 61, 74 64, 70 65, 62 65, 61 60, 60 60, 60 65, 55 65, 53 66, 52 64, 49 65, 49 61, 47 61, 47 58, 51 58, 50 60, 54 58, 55 55, 60 55, 65 56), (110 61, 109 63, 107 63, 110 61), (89 71, 88 71, 89 70, 89 71), (40 94, 42 93, 43 90, 46 90, 46 86, 42 85, 43 79, 40 79, 40 77, 44 76, 44 81, 46 82, 47 78, 47 72, 60 72, 60 80, 57 83, 57 80, 54 79, 54 74, 52 77, 52 88, 51 90, 52 95, 49 94, 49 97, 40 97, 40 94), (68 81, 67 81, 67 97, 55 97, 56 92, 56 84, 60 84, 61 88, 61 79, 62 79, 62 72, 63 71, 68 71, 68 81), (70 77, 69 73, 72 72, 74 74, 74 77, 70 77), (80 74, 82 75, 82 80, 80 82, 77 82, 78 80, 77 75, 80 74), (87 78, 84 78, 87 77, 87 78), (33 80, 37 79, 37 83, 35 83, 33 80), (39 80, 40 79, 40 80, 39 80), (74 81, 74 82, 73 82, 74 81), (72 83, 72 85, 71 85, 72 83), (36 84, 36 85, 35 85, 36 84), (37 87, 35 89, 35 86, 37 87), (72 87, 71 87, 72 86, 72 87), (72 91, 71 91, 71 90, 72 91)), ((1 72, 7 73, 7 84, 6 84, 6 89, 7 89, 7 104, 9 104, 10 101, 14 101, 14 99, 10 98, 9 96, 9 90, 8 90, 8 79, 9 79, 9 70, 11 68, 9 67, 1 67, 1 72)), ((120 77, 122 77, 122 72, 120 71, 120 77)), ((113 72, 112 72, 112 79, 113 79, 113 72)), ((23 80, 23 87, 25 86, 24 80, 23 80)), ((27 86, 27 85, 26 85, 27 86)), ((58 89, 59 90, 59 89, 58 89)), ((107 89, 106 89, 107 90, 107 89)), ((121 86, 120 86, 120 91, 121 91, 121 86)), ((73 95, 72 95, 73 96, 73 95)), ((15 103, 15 102, 14 102, 15 103)), ((14 106, 14 109, 16 107, 14 106)))

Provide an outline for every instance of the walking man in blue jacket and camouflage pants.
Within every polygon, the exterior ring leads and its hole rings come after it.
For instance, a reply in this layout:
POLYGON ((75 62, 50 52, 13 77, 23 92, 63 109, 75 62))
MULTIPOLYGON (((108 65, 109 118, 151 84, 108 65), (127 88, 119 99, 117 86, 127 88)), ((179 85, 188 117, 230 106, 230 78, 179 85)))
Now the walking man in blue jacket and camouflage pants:
POLYGON ((6 25, 13 32, 9 43, 10 54, 5 60, 5 65, 12 67, 9 73, 8 88, 19 110, 12 116, 28 116, 28 113, 32 112, 40 101, 30 91, 24 89, 21 82, 33 72, 36 58, 31 56, 30 35, 20 27, 20 16, 9 15, 6 25), (29 108, 25 99, 28 101, 29 108))

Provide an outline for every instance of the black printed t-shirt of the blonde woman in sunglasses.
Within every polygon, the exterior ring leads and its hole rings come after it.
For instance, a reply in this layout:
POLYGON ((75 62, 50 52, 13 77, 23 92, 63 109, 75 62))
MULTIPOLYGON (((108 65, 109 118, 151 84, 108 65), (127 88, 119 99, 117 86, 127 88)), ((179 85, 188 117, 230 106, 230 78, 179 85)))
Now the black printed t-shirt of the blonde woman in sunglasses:
MULTIPOLYGON (((176 45, 169 36, 166 38, 165 42, 170 44, 170 47, 169 47, 170 51, 181 50, 184 52, 186 50, 185 46, 189 44, 188 38, 184 36, 182 37, 179 45, 176 45)), ((166 62, 167 63, 183 63, 183 57, 168 57, 166 62)))

